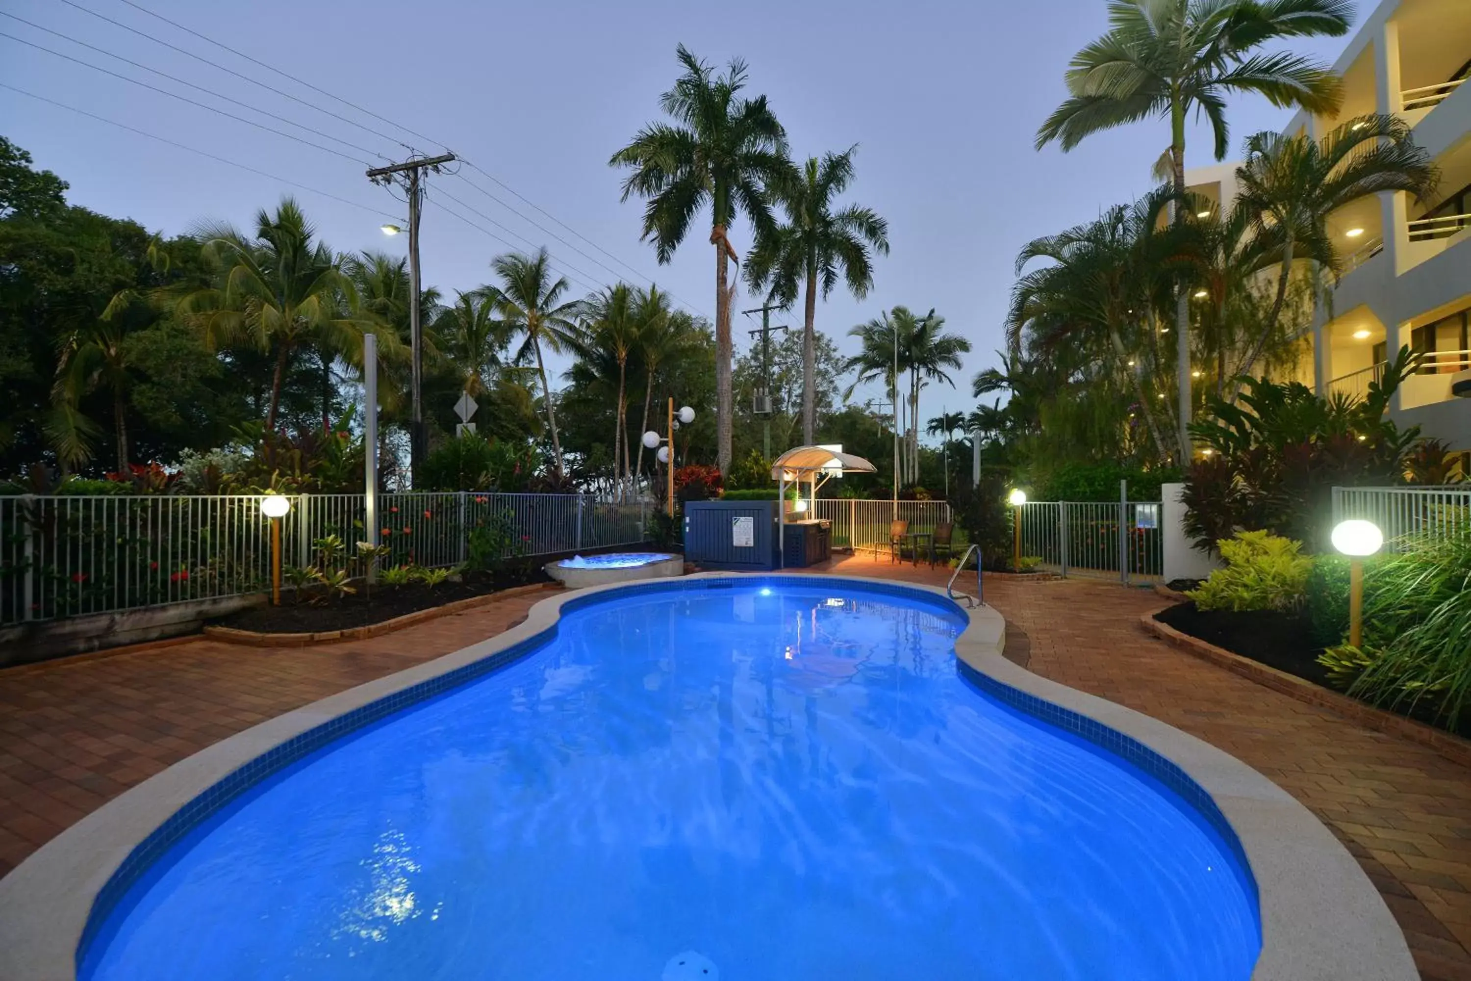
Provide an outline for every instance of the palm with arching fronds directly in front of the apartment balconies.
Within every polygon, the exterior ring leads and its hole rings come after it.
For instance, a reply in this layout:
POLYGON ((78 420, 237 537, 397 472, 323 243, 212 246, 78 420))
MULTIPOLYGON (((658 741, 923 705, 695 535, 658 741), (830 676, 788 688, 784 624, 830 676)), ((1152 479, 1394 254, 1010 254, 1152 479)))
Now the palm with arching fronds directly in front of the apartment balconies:
POLYGON ((1281 316, 1297 244, 1334 272, 1340 262, 1328 237, 1328 216, 1346 204, 1381 191, 1409 191, 1427 199, 1439 175, 1430 154, 1415 144, 1399 116, 1350 119, 1321 141, 1309 135, 1258 132, 1246 141, 1246 162, 1236 172, 1242 207, 1256 213, 1261 234, 1281 238, 1277 297, 1262 332, 1242 365, 1249 374, 1281 316))

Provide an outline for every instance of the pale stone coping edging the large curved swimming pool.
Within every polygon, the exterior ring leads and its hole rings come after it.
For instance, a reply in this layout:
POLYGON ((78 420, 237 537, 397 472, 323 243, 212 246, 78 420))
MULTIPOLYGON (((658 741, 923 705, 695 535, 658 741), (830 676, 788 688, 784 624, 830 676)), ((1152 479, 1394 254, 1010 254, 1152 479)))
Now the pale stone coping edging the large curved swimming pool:
MULTIPOLYGON (((568 603, 581 606, 606 591, 678 588, 681 582, 738 581, 750 575, 706 572, 549 596, 531 607, 522 624, 496 637, 294 709, 169 766, 87 815, 0 878, 0 978, 75 978, 76 952, 93 906, 115 874, 178 812, 200 807, 202 800, 209 805, 209 794, 260 757, 290 753, 307 734, 328 725, 335 728, 350 713, 378 710, 374 718, 382 718, 396 712, 410 702, 409 690, 425 682, 444 679, 449 687, 449 675, 463 675, 468 681, 521 656, 555 629, 568 603)), ((797 578, 769 572, 755 577, 797 578)), ((943 588, 930 585, 856 575, 824 575, 818 581, 927 593, 950 603, 943 588)), ((1178 768, 1219 809, 1236 832, 1259 891, 1262 952, 1253 981, 1418 978, 1403 932, 1368 875, 1303 805, 1246 763, 1193 735, 1006 660, 1000 613, 989 606, 968 613, 969 624, 956 638, 955 652, 993 694, 1044 721, 1056 722, 1033 703, 1074 716, 1066 722, 1069 728, 1091 722, 1122 734, 1178 768)), ((363 724, 366 718, 355 725, 363 724)), ((249 785, 259 778, 243 782, 249 785)))

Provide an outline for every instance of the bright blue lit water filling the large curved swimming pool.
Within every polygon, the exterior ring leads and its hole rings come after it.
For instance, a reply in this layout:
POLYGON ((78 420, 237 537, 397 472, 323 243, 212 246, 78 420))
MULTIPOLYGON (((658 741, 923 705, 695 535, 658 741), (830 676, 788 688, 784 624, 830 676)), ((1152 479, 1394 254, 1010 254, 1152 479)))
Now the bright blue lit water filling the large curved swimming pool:
POLYGON ((818 579, 577 609, 197 827, 82 977, 1247 978, 1228 849, 974 687, 962 625, 818 579))

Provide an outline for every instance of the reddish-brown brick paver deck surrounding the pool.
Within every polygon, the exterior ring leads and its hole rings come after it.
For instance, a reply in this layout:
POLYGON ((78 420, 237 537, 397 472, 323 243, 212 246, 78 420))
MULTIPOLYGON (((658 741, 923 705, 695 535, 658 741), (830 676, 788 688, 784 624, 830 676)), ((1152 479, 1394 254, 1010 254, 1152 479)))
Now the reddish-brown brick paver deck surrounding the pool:
MULTIPOLYGON (((943 585, 946 572, 843 559, 836 572, 943 585)), ((966 577, 969 578, 969 577, 966 577)), ((969 578, 974 585, 974 578, 969 578)), ((1471 771, 1358 728, 1146 635, 1144 590, 991 579, 1028 666, 1139 709, 1255 766, 1302 800, 1384 894, 1427 981, 1471 981, 1471 771)), ((190 641, 0 671, 0 874, 110 797, 254 722, 456 650, 535 594, 366 641, 247 649, 190 641)))

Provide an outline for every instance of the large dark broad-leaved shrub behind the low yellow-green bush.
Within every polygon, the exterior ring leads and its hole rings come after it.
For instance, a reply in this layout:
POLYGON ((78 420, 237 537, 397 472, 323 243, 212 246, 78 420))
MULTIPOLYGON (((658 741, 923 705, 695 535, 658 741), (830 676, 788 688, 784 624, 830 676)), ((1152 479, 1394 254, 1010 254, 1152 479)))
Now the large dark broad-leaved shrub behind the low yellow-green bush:
POLYGON ((1384 416, 1414 371, 1402 347, 1365 399, 1319 399, 1299 382, 1247 379, 1237 402, 1214 397, 1190 432, 1205 457, 1186 475, 1186 532, 1211 549, 1261 528, 1324 552, 1334 487, 1395 484, 1420 435, 1384 416))

